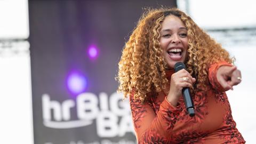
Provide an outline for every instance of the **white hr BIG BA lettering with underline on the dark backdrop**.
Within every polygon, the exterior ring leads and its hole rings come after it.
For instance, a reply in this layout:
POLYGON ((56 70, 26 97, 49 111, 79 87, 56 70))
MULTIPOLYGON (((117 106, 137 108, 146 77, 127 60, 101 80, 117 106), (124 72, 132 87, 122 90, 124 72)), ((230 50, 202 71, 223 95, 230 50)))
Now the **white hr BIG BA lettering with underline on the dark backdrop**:
POLYGON ((76 100, 67 99, 63 102, 51 100, 49 94, 43 94, 42 107, 43 123, 53 129, 87 126, 95 119, 99 137, 122 137, 126 132, 133 132, 129 103, 123 101, 123 95, 116 92, 109 98, 103 92, 99 97, 94 93, 81 93, 76 100), (71 111, 76 111, 75 120, 71 118, 71 111))

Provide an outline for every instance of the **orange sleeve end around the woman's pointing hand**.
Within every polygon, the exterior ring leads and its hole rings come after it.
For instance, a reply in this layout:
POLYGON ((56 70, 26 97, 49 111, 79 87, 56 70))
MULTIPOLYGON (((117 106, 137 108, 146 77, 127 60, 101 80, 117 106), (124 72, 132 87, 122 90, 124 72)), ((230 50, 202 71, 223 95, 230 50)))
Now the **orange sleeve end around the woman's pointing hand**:
POLYGON ((208 78, 209 78, 209 82, 212 85, 212 88, 218 91, 225 91, 225 89, 223 89, 223 87, 220 85, 220 83, 217 80, 217 71, 221 66, 233 66, 230 63, 226 62, 226 61, 221 61, 219 63, 214 63, 213 65, 211 65, 209 67, 209 71, 208 71, 208 78))

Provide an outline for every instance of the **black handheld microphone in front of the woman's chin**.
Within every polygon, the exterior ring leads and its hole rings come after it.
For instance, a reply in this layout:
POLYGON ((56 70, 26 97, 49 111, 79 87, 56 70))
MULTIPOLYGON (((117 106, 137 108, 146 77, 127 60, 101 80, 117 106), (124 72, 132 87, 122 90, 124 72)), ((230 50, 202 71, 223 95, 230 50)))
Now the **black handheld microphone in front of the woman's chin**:
MULTIPOLYGON (((177 62, 174 65, 174 70, 175 73, 181 69, 185 69, 186 70, 186 66, 184 65, 183 62, 177 62)), ((188 111, 189 116, 195 116, 195 108, 194 108, 194 103, 192 101, 191 98, 191 94, 190 94, 190 90, 189 87, 184 87, 182 89, 182 95, 183 95, 183 99, 185 101, 185 105, 186 105, 186 109, 188 111)))

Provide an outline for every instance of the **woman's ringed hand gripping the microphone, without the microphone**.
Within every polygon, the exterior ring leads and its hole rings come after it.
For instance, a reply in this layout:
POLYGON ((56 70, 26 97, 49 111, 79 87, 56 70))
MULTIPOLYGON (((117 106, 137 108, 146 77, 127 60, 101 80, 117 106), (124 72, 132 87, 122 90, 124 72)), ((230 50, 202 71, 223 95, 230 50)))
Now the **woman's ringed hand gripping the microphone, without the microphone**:
POLYGON ((196 79, 193 78, 185 69, 172 74, 167 100, 172 103, 173 106, 177 106, 183 87, 193 88, 193 83, 195 82, 196 79))

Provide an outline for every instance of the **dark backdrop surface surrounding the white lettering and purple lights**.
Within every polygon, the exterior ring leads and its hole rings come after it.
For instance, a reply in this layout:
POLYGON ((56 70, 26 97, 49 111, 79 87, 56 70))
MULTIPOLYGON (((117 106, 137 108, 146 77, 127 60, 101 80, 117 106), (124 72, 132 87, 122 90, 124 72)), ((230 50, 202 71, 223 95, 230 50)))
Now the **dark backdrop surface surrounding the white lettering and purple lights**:
MULTIPOLYGON (((87 76, 86 92, 108 95, 117 90, 118 61, 123 46, 137 24, 143 7, 176 6, 176 1, 29 1, 30 54, 35 143, 101 140, 95 123, 76 129, 51 129, 43 125, 42 94, 62 102, 74 99, 66 86, 71 70, 87 76), (87 47, 95 45, 99 57, 89 59, 87 47)), ((75 112, 75 111, 74 111, 75 112)), ((124 138, 135 140, 134 135, 124 138)))

